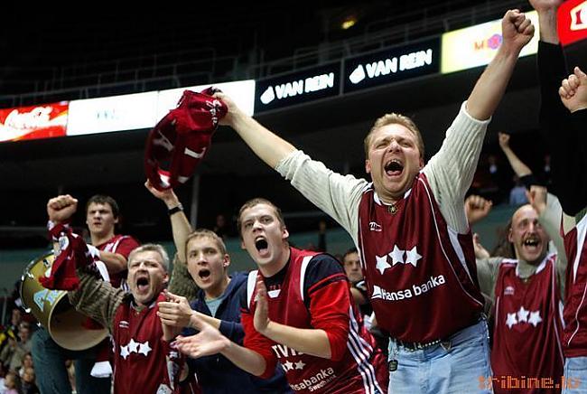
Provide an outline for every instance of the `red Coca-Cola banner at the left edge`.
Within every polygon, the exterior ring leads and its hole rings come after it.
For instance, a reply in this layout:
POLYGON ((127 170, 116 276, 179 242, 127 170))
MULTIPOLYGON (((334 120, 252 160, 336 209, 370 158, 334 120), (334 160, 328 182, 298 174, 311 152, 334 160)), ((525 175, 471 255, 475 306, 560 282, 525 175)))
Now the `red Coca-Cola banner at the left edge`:
POLYGON ((0 142, 65 136, 69 103, 0 109, 0 142))

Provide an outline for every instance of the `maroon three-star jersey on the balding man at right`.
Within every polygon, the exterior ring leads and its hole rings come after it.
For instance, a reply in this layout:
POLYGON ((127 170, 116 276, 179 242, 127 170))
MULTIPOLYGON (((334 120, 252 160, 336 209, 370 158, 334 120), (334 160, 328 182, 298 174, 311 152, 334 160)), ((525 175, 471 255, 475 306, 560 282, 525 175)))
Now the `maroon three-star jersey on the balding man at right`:
MULTIPOLYGON (((496 380, 494 391, 511 391, 507 389, 508 377, 551 378, 559 382, 563 376, 564 356, 556 255, 547 256, 526 282, 517 275, 517 260, 505 259, 498 269, 491 368, 493 376, 504 385, 502 388, 496 380)), ((541 390, 539 387, 519 392, 560 392, 560 389, 541 390)))

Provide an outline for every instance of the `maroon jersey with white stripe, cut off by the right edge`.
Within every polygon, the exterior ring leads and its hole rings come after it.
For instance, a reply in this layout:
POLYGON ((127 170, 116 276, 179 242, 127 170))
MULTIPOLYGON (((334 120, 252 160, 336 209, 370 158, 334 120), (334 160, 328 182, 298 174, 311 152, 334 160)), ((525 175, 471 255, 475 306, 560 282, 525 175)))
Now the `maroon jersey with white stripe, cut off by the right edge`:
POLYGON ((564 356, 587 357, 587 215, 564 235, 566 287, 564 296, 564 356))

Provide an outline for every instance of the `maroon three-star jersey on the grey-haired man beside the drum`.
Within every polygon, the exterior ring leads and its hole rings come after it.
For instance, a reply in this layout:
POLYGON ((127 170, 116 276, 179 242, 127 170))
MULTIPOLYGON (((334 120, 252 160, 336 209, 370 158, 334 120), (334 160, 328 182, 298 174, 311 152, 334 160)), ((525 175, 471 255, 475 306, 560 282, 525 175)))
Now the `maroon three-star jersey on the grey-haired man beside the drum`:
POLYGON ((157 303, 136 310, 131 297, 118 306, 112 326, 115 393, 172 393, 178 389, 181 355, 163 340, 157 303))

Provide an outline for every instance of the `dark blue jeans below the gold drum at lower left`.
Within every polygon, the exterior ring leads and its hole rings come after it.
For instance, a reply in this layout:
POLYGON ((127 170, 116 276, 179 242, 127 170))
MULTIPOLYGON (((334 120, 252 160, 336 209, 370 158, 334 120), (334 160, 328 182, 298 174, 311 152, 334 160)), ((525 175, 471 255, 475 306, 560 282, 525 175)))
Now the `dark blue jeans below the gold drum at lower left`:
POLYGON ((66 360, 74 360, 76 392, 78 394, 109 394, 110 379, 94 378, 89 374, 96 361, 95 348, 69 351, 55 343, 49 332, 39 328, 33 333, 33 365, 37 386, 42 394, 71 394, 66 360))

